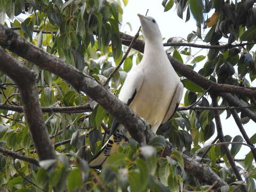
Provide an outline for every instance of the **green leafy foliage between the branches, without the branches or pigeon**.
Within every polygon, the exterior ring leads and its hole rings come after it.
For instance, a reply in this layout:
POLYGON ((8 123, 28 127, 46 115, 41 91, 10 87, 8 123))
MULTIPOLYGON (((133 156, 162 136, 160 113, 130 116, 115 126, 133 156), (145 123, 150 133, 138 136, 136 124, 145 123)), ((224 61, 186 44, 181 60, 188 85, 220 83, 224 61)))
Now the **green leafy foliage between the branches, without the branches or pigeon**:
MULTIPOLYGON (((123 9, 127 3, 128 0, 1 0, 0 22, 10 27, 19 27, 16 32, 30 43, 57 55, 103 84, 126 50, 126 47, 122 47, 119 23, 122 22, 123 9), (27 16, 25 20, 20 17, 23 13, 27 16), (6 20, 5 14, 9 19, 6 20), (35 29, 41 32, 33 33, 35 29)), ((209 45, 220 45, 222 40, 228 44, 256 41, 256 7, 253 0, 164 0, 162 5, 164 11, 174 9, 175 5, 180 18, 186 12, 186 21, 191 16, 195 18, 198 29, 188 34, 187 42, 203 41, 209 45), (201 27, 209 27, 205 35, 201 33, 201 27)), ((193 55, 194 49, 189 46, 175 47, 172 55, 184 63, 190 62, 187 66, 192 69, 196 68, 197 63, 204 63, 198 73, 214 82, 250 87, 249 81, 256 78, 256 54, 251 51, 253 45, 210 49, 207 55, 193 55)), ((111 92, 118 95, 126 74, 141 58, 141 53, 131 51, 123 67, 111 79, 111 92)), ((76 92, 60 77, 22 58, 18 59, 37 74, 41 106, 81 106, 89 101, 84 93, 76 92)), ((204 90, 185 77, 181 77, 181 80, 187 89, 183 105, 189 106, 204 90)), ((20 106, 17 86, 3 73, 0 74, 0 82, 0 102, 20 106)), ((253 98, 236 96, 247 105, 255 106, 253 98)), ((210 102, 204 95, 198 106, 210 107, 210 102)), ((227 101, 222 99, 221 106, 228 106, 227 101)), ((0 112, 0 147, 37 158, 24 114, 5 109, 0 109, 0 112)), ((230 115, 227 110, 227 118, 230 115)), ((202 148, 201 144, 208 141, 215 132, 211 110, 175 113, 170 121, 158 129, 157 134, 163 137, 156 137, 148 146, 143 147, 130 139, 129 143, 119 148, 118 154, 107 159, 101 171, 90 169, 87 162, 106 141, 107 130, 102 123, 110 127, 113 117, 105 109, 97 106, 91 113, 44 113, 43 118, 51 140, 55 143, 55 150, 59 153, 58 159, 40 162, 41 167, 36 167, 0 154, 0 185, 6 191, 128 191, 128 188, 129 191, 180 191, 183 188, 205 190, 209 187, 196 184, 186 172, 178 152, 174 151, 170 157, 163 157, 161 153, 165 147, 163 138, 169 139, 174 147, 185 154, 194 154, 202 148), (67 140, 63 145, 56 145, 67 140)), ((243 113, 241 118, 245 119, 243 123, 249 121, 243 113)), ((255 138, 255 135, 251 138, 253 143, 256 142, 255 138)), ((235 138, 226 135, 226 140, 243 142, 244 139, 240 135, 235 138)), ((235 157, 240 148, 241 145, 233 144, 231 155, 235 157)), ((232 191, 239 183, 222 147, 211 147, 206 158, 210 159, 207 164, 229 184, 229 187, 221 190, 232 191), (219 164, 220 159, 225 163, 219 164)), ((239 163, 239 169, 242 170, 246 188, 254 191, 256 172, 251 152, 239 163)))

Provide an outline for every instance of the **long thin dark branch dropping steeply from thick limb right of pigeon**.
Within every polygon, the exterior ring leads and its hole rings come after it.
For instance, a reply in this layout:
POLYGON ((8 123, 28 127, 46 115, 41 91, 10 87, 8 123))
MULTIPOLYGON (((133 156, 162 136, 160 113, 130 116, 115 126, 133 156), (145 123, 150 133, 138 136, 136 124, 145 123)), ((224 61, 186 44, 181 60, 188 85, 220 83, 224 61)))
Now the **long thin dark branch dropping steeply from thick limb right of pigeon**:
MULTIPOLYGON (((212 105, 213 107, 218 107, 218 101, 217 101, 217 97, 214 97, 211 95, 211 98, 212 98, 212 105)), ((226 142, 225 138, 224 138, 224 135, 223 135, 223 132, 222 132, 222 126, 221 126, 221 121, 220 121, 220 116, 219 116, 219 113, 217 110, 214 110, 214 118, 215 118, 215 124, 216 124, 216 127, 217 127, 217 132, 218 132, 218 138, 221 142, 226 142)), ((233 157, 231 156, 231 153, 230 153, 230 150, 228 149, 228 147, 226 145, 223 146, 223 149, 226 153, 226 156, 228 158, 228 161, 236 175, 236 178, 237 180, 239 181, 243 181, 242 177, 241 177, 241 174, 239 173, 237 167, 236 167, 236 164, 235 164, 235 161, 233 159, 233 157)), ((246 188, 244 186, 241 186, 241 189, 245 192, 247 191, 246 188)))

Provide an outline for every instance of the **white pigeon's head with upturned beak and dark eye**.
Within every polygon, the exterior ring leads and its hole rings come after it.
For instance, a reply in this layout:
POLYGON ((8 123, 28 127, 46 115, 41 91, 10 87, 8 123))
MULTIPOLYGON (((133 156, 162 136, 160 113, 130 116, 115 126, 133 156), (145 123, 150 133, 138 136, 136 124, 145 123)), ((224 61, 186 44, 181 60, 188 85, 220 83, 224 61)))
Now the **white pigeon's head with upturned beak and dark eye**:
POLYGON ((138 14, 140 18, 140 23, 142 27, 142 33, 146 40, 152 41, 153 39, 156 41, 160 41, 162 43, 162 34, 157 25, 156 20, 153 17, 144 16, 138 14))

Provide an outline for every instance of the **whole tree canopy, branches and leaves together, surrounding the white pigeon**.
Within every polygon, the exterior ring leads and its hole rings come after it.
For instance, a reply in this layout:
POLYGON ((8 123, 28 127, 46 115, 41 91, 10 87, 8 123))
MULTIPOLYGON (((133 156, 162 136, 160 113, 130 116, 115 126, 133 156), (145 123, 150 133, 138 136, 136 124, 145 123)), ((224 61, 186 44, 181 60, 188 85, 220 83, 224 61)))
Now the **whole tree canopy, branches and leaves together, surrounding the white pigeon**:
POLYGON ((128 3, 0 0, 0 189, 255 191, 256 134, 243 127, 256 122, 254 1, 162 1, 197 30, 164 43, 186 89, 156 134, 116 98, 145 44, 120 31, 128 3), (241 134, 223 134, 223 111, 241 134), (93 170, 113 118, 132 138, 93 170))

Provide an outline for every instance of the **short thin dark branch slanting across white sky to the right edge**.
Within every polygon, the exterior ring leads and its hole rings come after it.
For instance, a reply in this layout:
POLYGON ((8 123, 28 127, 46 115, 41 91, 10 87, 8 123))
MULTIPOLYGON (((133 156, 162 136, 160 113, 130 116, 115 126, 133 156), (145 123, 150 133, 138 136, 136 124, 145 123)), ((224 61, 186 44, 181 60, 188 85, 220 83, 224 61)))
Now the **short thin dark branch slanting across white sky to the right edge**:
POLYGON ((246 131, 244 130, 244 127, 242 125, 241 119, 239 118, 237 111, 235 109, 231 110, 231 114, 233 115, 233 118, 235 119, 235 122, 238 126, 238 129, 240 130, 240 132, 243 135, 244 140, 247 142, 247 144, 249 146, 251 146, 251 151, 252 151, 252 155, 254 157, 254 161, 256 163, 256 149, 254 148, 254 145, 252 143, 252 141, 250 140, 250 138, 248 137, 246 131))

